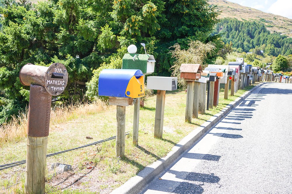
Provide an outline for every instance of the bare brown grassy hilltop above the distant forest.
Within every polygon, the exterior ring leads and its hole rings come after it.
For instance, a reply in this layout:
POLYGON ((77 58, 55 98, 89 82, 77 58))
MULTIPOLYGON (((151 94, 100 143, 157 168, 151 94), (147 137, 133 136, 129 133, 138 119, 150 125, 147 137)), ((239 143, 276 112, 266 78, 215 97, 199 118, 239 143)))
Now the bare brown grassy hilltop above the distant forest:
POLYGON ((220 18, 233 17, 239 20, 256 21, 265 24, 271 32, 279 32, 292 37, 292 19, 265 13, 225 0, 209 0, 209 3, 211 5, 218 5, 218 9, 222 11, 219 16, 220 18))

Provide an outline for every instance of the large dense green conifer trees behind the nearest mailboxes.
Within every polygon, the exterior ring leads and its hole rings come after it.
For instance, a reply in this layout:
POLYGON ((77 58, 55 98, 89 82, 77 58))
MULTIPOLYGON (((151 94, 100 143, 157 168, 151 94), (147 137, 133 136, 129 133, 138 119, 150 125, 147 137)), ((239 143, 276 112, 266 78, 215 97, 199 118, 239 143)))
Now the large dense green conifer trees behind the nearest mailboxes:
POLYGON ((0 0, 0 4, 0 123, 27 105, 29 87, 18 79, 26 63, 63 63, 69 81, 58 98, 69 99, 82 97, 86 90, 82 83, 91 79, 92 71, 120 59, 130 44, 141 53, 144 42, 161 75, 170 75, 169 47, 175 43, 187 48, 189 40, 213 41, 217 49, 221 44, 218 35, 211 36, 219 13, 206 0, 48 0, 37 5, 0 0))

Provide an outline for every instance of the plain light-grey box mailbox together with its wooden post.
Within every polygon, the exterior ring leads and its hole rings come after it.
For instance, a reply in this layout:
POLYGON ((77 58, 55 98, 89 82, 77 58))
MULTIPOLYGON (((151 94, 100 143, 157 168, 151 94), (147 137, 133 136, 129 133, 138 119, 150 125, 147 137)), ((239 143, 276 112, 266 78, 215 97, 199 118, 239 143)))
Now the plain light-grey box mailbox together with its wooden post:
POLYGON ((177 85, 178 78, 176 77, 159 77, 159 76, 147 77, 147 88, 157 90, 154 138, 162 138, 166 90, 168 91, 177 90, 177 85))

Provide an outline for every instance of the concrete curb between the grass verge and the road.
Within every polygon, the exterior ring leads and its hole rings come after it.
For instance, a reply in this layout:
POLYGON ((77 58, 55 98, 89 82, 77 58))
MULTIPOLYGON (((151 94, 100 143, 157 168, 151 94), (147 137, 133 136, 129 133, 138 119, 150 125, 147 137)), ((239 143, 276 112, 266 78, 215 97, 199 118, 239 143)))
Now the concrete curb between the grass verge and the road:
POLYGON ((220 113, 212 116, 208 121, 202 124, 200 127, 194 129, 190 134, 185 136, 178 144, 176 144, 171 152, 169 152, 164 158, 161 158, 154 163, 146 166, 142 171, 138 173, 135 177, 132 177, 126 181, 122 186, 115 189, 111 194, 136 194, 140 193, 147 184, 149 184, 154 177, 158 176, 164 169, 171 165, 183 152, 188 150, 191 145, 193 145, 197 140, 202 138, 205 133, 211 129, 216 123, 223 119, 230 111, 239 105, 246 97, 248 97, 251 92, 259 88, 265 83, 260 83, 259 85, 253 87, 251 90, 246 91, 243 95, 238 97, 235 101, 228 104, 223 108, 220 113))

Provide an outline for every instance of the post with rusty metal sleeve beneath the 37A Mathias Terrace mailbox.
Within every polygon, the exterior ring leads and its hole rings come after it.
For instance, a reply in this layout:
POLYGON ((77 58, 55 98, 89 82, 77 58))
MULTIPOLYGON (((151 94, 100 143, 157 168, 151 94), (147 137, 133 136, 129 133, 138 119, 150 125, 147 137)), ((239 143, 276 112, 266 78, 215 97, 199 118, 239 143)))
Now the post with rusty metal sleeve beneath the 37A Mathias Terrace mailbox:
POLYGON ((25 168, 25 192, 29 194, 45 193, 51 99, 44 87, 30 86, 25 168))

